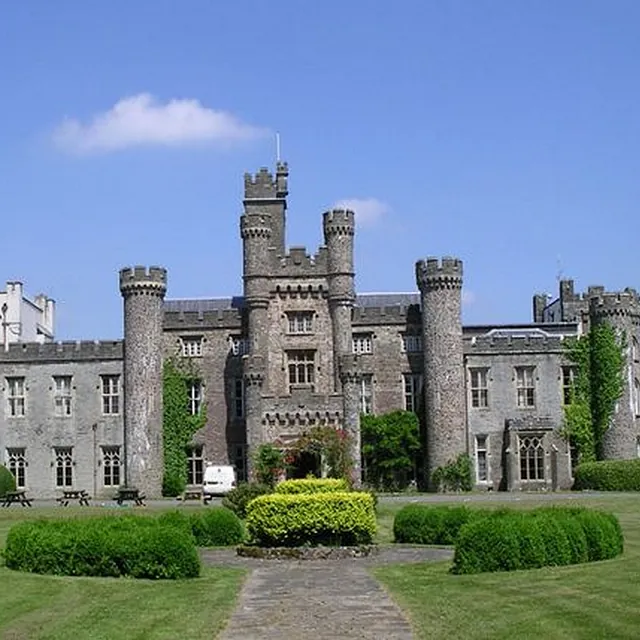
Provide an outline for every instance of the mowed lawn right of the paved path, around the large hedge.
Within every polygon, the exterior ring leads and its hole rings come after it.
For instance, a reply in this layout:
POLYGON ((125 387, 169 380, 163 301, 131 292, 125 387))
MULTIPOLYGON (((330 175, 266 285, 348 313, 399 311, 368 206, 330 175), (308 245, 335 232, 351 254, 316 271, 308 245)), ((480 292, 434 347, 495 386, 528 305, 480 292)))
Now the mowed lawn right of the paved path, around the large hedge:
MULTIPOLYGON (((625 535, 624 554, 571 567, 474 576, 450 575, 449 562, 377 567, 372 573, 408 614, 418 638, 640 637, 640 495, 571 504, 615 513, 625 535)), ((381 539, 392 536, 392 515, 401 506, 385 505, 381 539)), ((475 506, 538 505, 527 500, 475 506)))

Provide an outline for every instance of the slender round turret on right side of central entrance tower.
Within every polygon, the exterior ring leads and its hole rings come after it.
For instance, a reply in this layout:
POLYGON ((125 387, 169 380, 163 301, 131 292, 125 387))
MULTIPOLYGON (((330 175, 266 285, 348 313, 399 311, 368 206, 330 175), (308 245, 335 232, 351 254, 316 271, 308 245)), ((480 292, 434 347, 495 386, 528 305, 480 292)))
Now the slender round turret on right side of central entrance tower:
POLYGON ((322 216, 324 242, 327 247, 329 313, 333 330, 334 387, 340 391, 340 357, 351 354, 351 309, 355 303, 353 211, 333 209, 322 216))

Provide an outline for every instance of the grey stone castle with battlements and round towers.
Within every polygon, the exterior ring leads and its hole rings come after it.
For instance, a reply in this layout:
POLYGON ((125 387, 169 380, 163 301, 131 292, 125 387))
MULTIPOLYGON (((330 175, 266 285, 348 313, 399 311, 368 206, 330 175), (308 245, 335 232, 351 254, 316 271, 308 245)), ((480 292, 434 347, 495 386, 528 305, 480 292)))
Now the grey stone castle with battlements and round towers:
POLYGON ((428 258, 415 265, 418 293, 357 295, 353 212, 323 215, 314 255, 287 250, 287 182, 285 163, 245 176, 242 296, 165 300, 164 269, 122 269, 123 340, 5 345, 0 452, 19 486, 47 498, 69 487, 109 496, 126 483, 158 496, 162 363, 179 352, 198 371, 190 410, 207 412, 189 449, 192 484, 206 461, 244 479, 259 444, 286 448, 316 425, 343 427, 356 454, 362 413, 407 409, 425 430, 426 477, 467 452, 478 489, 568 488, 563 340, 604 321, 629 337, 605 455, 638 455, 635 291, 579 295, 564 280, 556 300, 534 296, 530 324, 463 327, 462 261, 428 258))

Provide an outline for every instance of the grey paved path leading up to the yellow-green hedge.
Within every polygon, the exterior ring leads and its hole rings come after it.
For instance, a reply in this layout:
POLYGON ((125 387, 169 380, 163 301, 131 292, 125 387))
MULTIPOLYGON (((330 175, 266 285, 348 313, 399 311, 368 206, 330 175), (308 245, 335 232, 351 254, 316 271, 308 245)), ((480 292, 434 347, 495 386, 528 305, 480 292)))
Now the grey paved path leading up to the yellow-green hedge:
POLYGON ((221 640, 411 640, 411 627, 366 566, 451 557, 445 549, 393 547, 350 560, 257 560, 203 551, 212 565, 253 571, 221 640))

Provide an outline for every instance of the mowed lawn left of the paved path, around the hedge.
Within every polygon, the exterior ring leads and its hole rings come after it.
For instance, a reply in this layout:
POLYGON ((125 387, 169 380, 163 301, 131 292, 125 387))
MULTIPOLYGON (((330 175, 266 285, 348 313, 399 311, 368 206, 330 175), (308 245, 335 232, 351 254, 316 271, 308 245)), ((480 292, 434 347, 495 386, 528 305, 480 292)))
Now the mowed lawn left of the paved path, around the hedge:
MULTIPOLYGON (((116 512, 117 513, 117 512, 116 512)), ((11 526, 39 517, 105 515, 104 509, 0 510, 0 548, 11 526)), ((0 561, 2 640, 215 638, 246 572, 203 568, 192 580, 67 578, 11 571, 0 561)))

